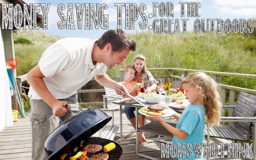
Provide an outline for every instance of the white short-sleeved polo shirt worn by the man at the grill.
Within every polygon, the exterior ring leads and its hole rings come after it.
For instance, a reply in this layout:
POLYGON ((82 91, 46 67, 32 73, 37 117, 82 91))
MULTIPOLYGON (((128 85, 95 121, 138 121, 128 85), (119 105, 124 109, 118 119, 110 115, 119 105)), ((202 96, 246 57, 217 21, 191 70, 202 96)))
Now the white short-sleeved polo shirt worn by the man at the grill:
MULTIPOLYGON (((48 90, 56 99, 64 99, 76 93, 93 77, 105 75, 103 63, 93 65, 92 50, 97 40, 64 38, 47 48, 38 62, 48 90)), ((29 97, 41 99, 30 86, 29 97)))

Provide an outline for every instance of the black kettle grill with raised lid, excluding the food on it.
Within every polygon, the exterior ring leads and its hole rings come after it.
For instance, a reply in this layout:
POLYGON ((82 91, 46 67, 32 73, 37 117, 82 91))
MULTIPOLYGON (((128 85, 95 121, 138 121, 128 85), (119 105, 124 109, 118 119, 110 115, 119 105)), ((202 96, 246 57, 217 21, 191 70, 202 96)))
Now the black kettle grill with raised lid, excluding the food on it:
MULTIPOLYGON (((49 135, 44 144, 48 160, 58 160, 64 154, 64 149, 67 145, 79 146, 81 140, 84 141, 84 146, 87 144, 99 144, 103 147, 108 143, 115 143, 116 148, 108 152, 109 160, 118 160, 122 156, 122 148, 119 144, 100 137, 90 137, 111 119, 111 116, 108 116, 100 109, 87 109, 66 119, 49 135)), ((101 152, 103 152, 103 149, 95 154, 101 152)), ((87 157, 92 155, 87 154, 87 157)))

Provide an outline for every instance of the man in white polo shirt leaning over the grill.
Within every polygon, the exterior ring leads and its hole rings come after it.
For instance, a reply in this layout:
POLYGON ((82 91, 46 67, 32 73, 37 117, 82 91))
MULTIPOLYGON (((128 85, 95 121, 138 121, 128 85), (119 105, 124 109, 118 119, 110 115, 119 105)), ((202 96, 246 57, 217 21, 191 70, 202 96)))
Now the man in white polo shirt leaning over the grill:
POLYGON ((38 65, 27 75, 32 125, 32 160, 46 160, 44 142, 58 126, 59 119, 71 114, 64 108, 81 111, 76 90, 95 77, 102 86, 127 93, 127 88, 106 74, 107 67, 123 65, 136 44, 122 30, 109 30, 98 40, 64 38, 47 48, 38 65))

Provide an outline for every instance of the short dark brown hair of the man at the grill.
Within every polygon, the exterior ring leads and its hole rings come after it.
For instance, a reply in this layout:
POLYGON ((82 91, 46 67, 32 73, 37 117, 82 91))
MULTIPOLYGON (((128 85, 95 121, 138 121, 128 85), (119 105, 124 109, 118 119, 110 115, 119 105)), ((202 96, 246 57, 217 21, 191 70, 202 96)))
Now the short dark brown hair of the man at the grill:
POLYGON ((120 52, 122 49, 136 50, 136 43, 125 34, 122 29, 111 29, 105 32, 97 41, 97 46, 103 49, 106 44, 112 45, 113 52, 120 52))

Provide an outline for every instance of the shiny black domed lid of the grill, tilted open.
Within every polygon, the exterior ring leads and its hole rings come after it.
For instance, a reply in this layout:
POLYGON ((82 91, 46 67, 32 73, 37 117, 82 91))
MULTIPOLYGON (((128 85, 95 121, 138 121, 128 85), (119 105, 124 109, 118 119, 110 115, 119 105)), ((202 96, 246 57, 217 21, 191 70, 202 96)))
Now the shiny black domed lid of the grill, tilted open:
POLYGON ((87 109, 66 119, 44 143, 48 160, 53 160, 52 157, 72 141, 92 136, 111 119, 111 116, 100 109, 87 109))

